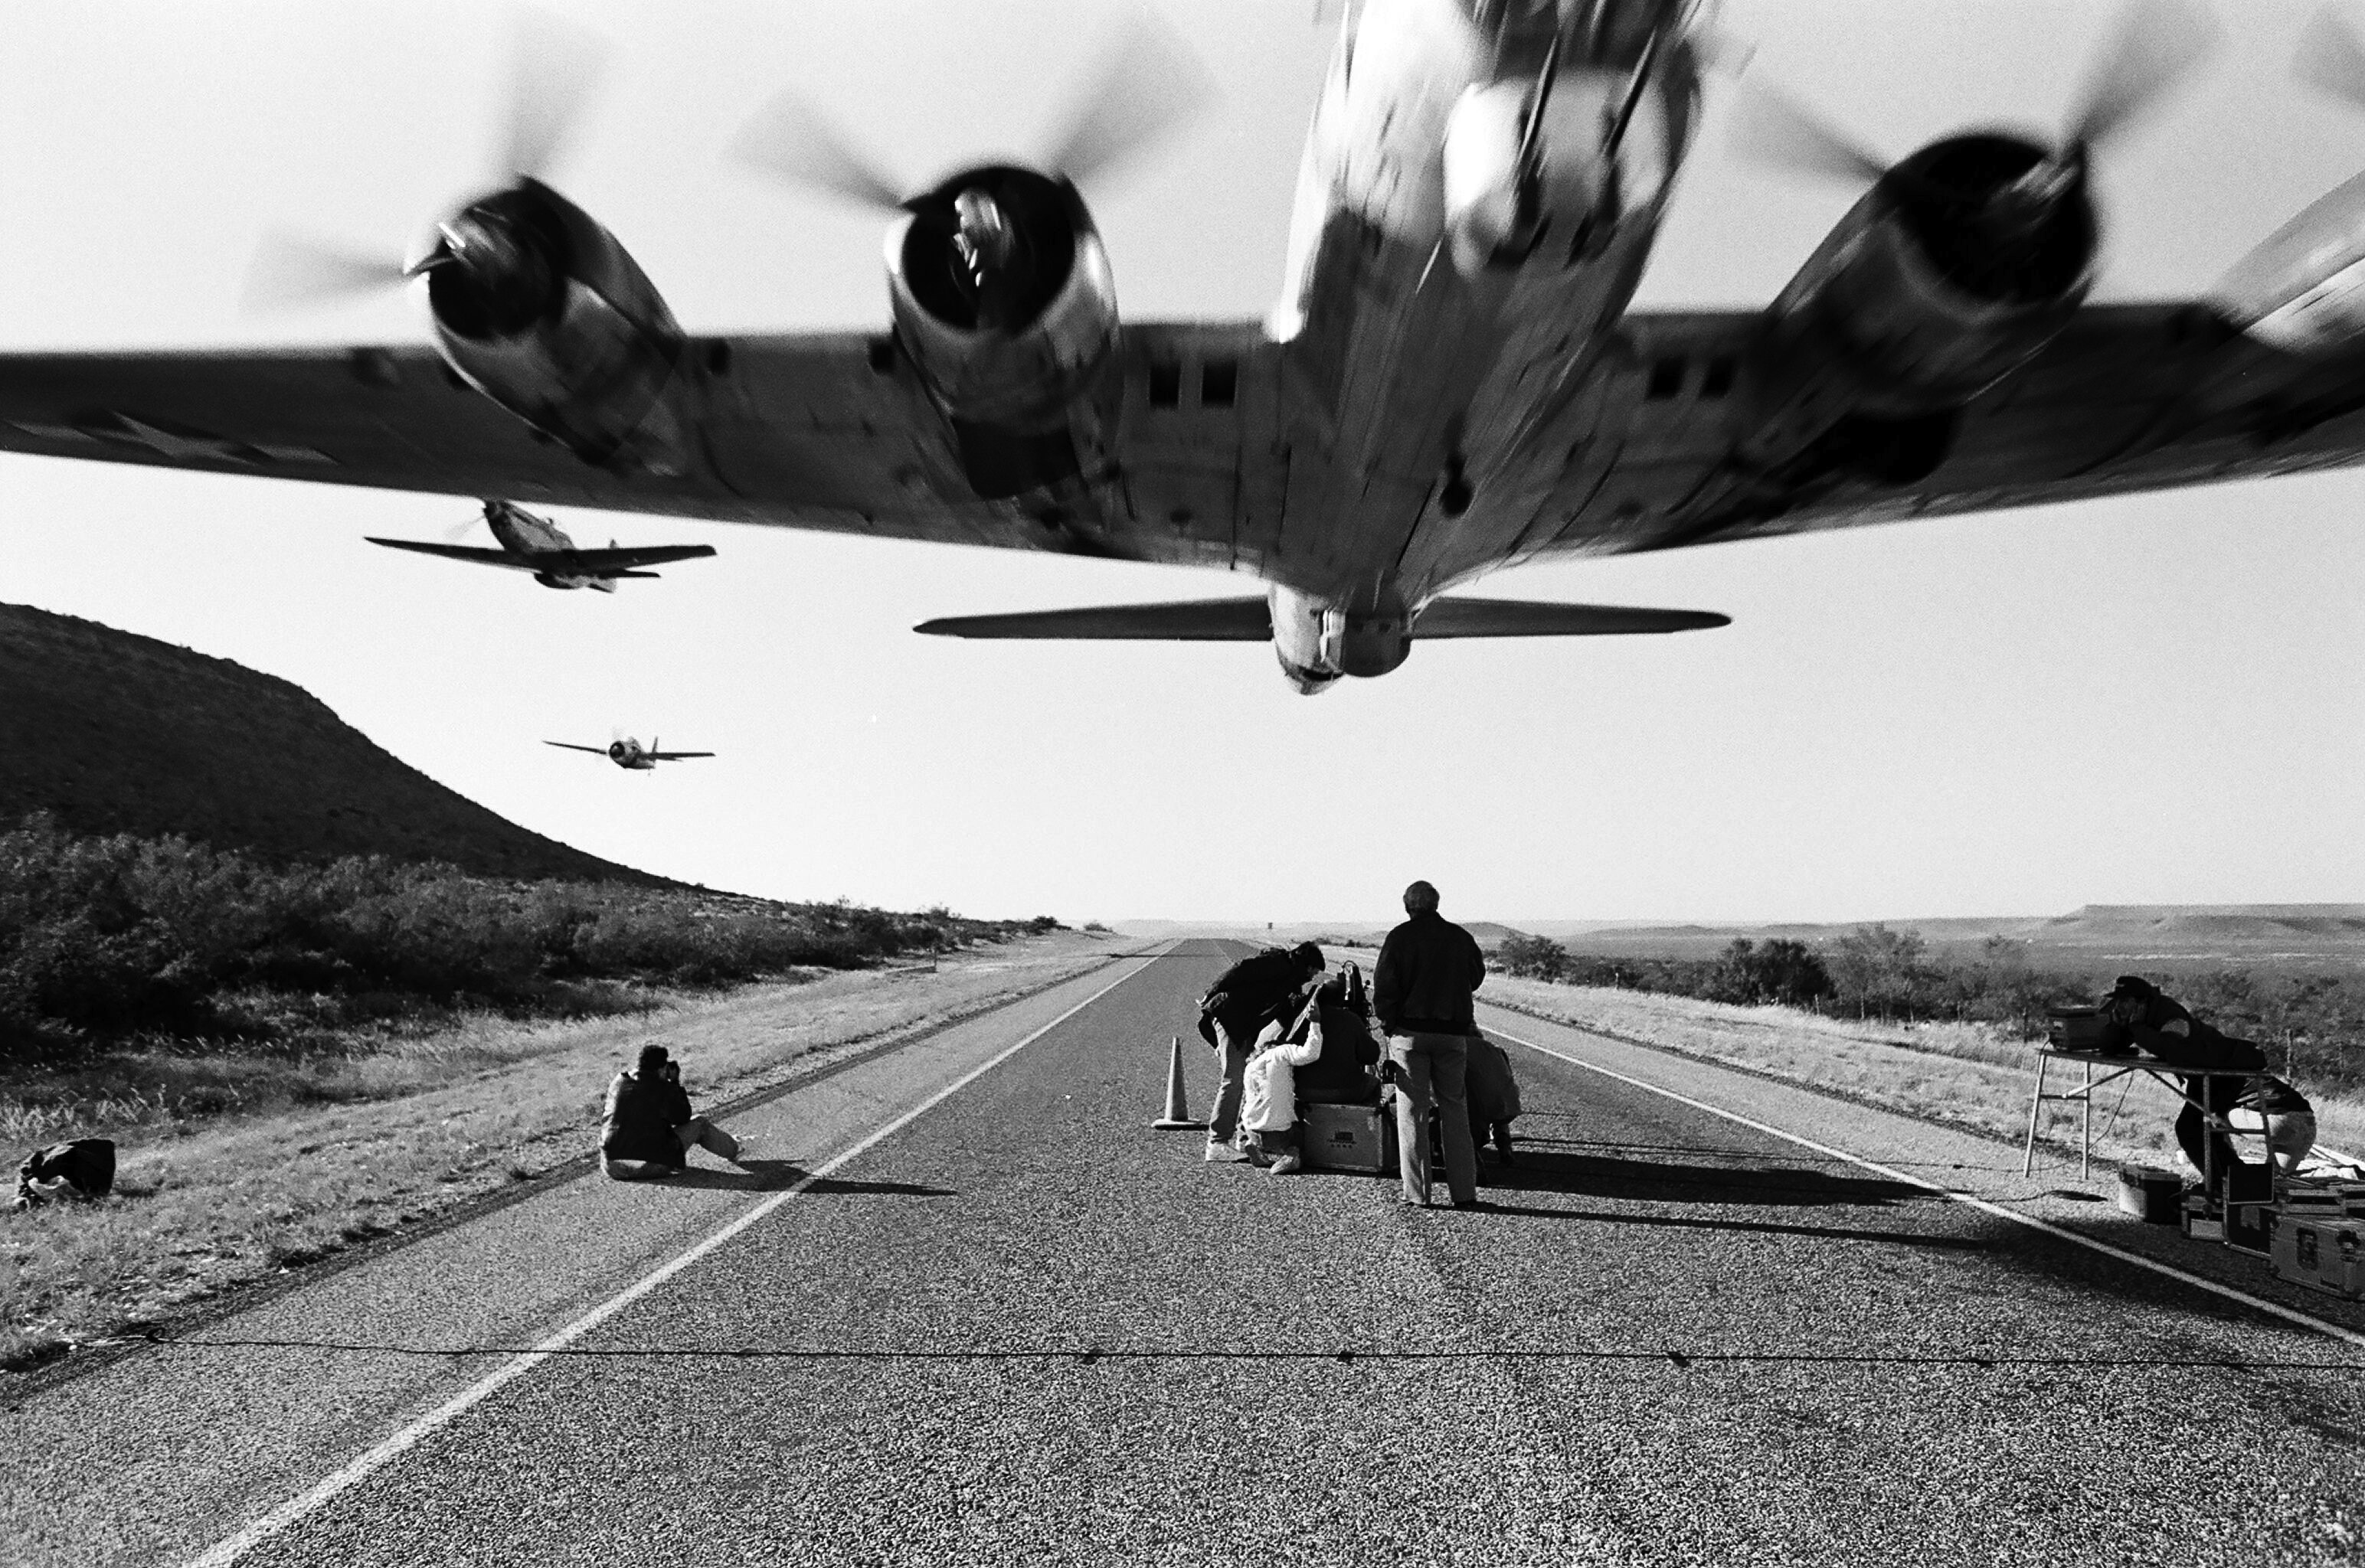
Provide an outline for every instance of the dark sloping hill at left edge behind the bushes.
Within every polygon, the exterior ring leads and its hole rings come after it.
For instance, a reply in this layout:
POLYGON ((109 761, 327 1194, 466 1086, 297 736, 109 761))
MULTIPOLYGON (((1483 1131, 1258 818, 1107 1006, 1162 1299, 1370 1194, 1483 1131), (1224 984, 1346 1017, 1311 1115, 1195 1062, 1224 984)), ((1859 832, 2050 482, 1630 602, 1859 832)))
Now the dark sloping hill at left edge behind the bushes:
POLYGON ((383 854, 485 877, 665 885, 494 816, 277 676, 0 605, 0 825, 180 832, 270 861, 383 854))

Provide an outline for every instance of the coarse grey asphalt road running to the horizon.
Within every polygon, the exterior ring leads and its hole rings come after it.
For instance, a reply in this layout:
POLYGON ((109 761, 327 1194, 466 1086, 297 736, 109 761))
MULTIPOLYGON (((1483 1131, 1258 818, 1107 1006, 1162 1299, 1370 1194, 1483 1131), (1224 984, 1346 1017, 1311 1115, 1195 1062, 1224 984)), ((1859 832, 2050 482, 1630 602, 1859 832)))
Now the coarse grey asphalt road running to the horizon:
POLYGON ((1204 1164, 1149 1119, 1178 1031, 1204 1109, 1192 1003, 1235 951, 788 1093, 738 1126, 795 1161, 752 1183, 568 1183, 45 1388, 0 1554, 194 1561, 412 1433, 237 1561, 2365 1556, 2353 1305, 2069 1197, 2102 1190, 2074 1164, 1502 1010, 1528 1114, 1490 1209, 1204 1164))

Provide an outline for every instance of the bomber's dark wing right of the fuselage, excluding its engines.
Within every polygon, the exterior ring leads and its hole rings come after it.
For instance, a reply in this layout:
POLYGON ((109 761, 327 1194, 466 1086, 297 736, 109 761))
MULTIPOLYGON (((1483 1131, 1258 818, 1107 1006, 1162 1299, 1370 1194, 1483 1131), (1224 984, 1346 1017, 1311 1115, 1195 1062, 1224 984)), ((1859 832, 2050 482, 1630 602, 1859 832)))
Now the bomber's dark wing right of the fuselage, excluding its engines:
POLYGON ((1750 464, 1762 312, 1637 312, 1594 440, 1518 556, 1627 553, 2365 461, 2365 376, 2256 345, 2199 300, 2088 305, 1953 416, 1750 464), (1540 544, 1540 549, 1537 549, 1540 544))

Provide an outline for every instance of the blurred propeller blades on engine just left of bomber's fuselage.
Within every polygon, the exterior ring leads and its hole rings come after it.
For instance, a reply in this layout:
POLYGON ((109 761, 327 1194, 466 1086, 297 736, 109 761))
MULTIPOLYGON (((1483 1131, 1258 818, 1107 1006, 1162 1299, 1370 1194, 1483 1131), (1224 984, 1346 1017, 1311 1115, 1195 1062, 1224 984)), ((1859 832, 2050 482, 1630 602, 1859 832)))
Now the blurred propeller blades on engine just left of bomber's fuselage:
MULTIPOLYGON (((1138 14, 1038 168, 1090 184, 1190 118, 1211 95, 1213 78, 1190 45, 1147 12, 1138 14)), ((785 184, 882 213, 918 210, 932 199, 901 194, 868 149, 795 92, 766 104, 733 142, 733 156, 785 184)))

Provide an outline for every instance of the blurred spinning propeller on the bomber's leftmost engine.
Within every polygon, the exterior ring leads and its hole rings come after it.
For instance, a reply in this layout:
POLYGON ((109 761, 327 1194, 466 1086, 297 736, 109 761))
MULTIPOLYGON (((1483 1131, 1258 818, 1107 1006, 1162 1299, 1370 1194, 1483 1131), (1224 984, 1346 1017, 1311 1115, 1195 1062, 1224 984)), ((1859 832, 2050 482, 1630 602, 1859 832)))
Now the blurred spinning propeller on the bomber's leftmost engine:
MULTIPOLYGON (((492 166, 494 189, 539 182, 561 163, 605 64, 608 43, 598 35, 546 12, 518 14, 504 144, 492 166)), ((499 225, 485 225, 473 206, 440 222, 435 248, 409 265, 300 234, 267 234, 248 270, 244 305, 298 310, 336 303, 400 286, 445 265, 485 267, 490 274, 492 267, 516 265, 516 255, 499 225)))

